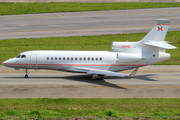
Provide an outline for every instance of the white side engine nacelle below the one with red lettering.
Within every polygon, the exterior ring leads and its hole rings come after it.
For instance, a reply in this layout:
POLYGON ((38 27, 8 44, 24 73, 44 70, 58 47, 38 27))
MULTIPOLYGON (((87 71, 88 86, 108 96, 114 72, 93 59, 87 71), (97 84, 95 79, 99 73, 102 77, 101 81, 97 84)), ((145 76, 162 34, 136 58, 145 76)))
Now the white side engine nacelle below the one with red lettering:
POLYGON ((142 60, 142 56, 139 54, 118 53, 117 59, 118 62, 122 62, 122 63, 137 62, 142 60))

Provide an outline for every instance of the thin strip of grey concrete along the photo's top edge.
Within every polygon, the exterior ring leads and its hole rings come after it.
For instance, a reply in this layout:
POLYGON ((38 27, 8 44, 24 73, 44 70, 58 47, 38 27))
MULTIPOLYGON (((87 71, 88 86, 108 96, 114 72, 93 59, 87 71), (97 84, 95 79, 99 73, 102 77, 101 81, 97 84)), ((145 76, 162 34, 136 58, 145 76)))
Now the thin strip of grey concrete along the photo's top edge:
POLYGON ((180 2, 180 0, 0 0, 0 2, 180 2))

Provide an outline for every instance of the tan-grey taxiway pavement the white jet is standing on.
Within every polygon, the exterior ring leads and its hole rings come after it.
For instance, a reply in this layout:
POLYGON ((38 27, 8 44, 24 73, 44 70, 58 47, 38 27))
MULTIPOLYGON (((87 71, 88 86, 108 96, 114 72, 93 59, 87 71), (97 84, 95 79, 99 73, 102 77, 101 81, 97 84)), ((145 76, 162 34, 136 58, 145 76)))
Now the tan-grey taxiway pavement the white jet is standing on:
POLYGON ((150 65, 140 68, 135 77, 104 80, 91 80, 91 74, 30 72, 24 78, 22 70, 1 66, 0 98, 180 98, 180 66, 176 65, 150 65))

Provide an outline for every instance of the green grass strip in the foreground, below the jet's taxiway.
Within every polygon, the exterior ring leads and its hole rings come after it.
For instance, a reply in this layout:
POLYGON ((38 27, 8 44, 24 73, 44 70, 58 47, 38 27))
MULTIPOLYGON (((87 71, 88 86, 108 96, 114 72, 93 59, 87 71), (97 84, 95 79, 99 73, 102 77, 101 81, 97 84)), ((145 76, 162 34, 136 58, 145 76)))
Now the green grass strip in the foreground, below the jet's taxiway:
POLYGON ((0 99, 2 117, 180 117, 180 99, 0 99))

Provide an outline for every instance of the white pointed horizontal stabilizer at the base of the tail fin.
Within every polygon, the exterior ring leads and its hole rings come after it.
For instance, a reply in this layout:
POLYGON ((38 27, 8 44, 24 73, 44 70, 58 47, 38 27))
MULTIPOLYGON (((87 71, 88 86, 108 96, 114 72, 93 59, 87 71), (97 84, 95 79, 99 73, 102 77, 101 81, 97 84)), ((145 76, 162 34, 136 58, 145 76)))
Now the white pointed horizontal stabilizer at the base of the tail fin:
POLYGON ((155 47, 160 47, 160 48, 165 48, 165 49, 177 49, 177 47, 172 46, 170 44, 168 44, 165 41, 160 41, 160 42, 146 42, 144 43, 146 45, 151 45, 151 46, 155 46, 155 47))

